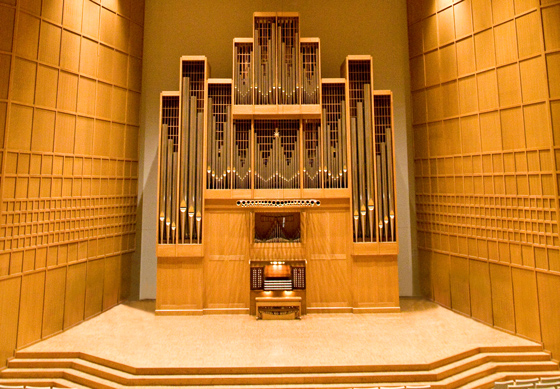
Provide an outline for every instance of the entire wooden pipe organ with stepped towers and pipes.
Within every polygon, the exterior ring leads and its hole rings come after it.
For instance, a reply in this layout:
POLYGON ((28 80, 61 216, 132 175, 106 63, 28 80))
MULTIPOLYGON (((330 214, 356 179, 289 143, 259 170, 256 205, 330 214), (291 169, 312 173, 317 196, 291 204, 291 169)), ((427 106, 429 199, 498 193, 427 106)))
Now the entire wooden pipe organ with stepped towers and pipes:
POLYGON ((321 78, 299 22, 255 13, 232 79, 184 56, 161 93, 157 314, 399 311, 392 93, 368 55, 321 78))

